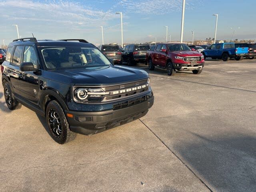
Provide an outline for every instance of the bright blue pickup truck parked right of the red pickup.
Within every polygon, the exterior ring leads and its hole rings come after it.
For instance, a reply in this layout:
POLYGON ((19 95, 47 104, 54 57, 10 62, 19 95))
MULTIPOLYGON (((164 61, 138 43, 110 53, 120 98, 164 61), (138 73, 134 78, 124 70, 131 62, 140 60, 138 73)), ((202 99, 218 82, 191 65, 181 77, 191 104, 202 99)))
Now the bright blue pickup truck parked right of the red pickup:
POLYGON ((234 43, 216 43, 212 44, 209 49, 202 52, 204 59, 211 57, 212 59, 222 59, 228 61, 230 58, 242 60, 248 54, 248 47, 235 48, 234 43))

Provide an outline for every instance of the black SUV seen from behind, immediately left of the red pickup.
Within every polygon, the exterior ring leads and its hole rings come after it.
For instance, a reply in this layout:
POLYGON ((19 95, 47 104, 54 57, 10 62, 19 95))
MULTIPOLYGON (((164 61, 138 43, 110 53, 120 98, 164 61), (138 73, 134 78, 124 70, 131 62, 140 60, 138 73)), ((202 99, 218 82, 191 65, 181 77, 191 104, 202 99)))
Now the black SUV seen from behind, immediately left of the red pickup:
POLYGON ((147 51, 150 50, 148 44, 129 44, 124 46, 122 50, 122 61, 127 62, 128 66, 137 63, 145 63, 147 51))

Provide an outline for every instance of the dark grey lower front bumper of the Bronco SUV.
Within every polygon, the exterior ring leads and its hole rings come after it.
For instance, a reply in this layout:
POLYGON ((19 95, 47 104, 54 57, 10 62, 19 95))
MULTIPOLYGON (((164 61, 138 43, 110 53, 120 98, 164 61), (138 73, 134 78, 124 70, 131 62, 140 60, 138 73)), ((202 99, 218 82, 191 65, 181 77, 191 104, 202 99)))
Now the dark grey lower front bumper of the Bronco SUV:
MULTIPOLYGON (((122 103, 123 101, 120 101, 122 103)), ((129 102, 133 102, 132 99, 129 102)), ((73 132, 91 135, 96 134, 116 126, 126 124, 146 115, 149 108, 154 104, 154 96, 147 96, 144 102, 117 110, 105 110, 98 112, 76 112, 65 111, 73 114, 73 118, 68 117, 70 130, 73 132)), ((122 104, 121 104, 122 105, 122 104)), ((126 102, 127 105, 127 102, 126 102)))

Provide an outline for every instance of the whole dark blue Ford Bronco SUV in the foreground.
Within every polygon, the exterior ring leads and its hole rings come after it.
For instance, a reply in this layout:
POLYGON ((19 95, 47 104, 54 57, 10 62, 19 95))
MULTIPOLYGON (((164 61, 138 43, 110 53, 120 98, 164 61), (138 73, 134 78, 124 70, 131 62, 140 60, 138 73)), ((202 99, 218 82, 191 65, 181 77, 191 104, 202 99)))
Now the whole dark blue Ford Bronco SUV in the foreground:
POLYGON ((45 116, 59 144, 141 118, 154 102, 147 72, 115 66, 78 41, 17 39, 1 66, 8 108, 24 105, 45 116))

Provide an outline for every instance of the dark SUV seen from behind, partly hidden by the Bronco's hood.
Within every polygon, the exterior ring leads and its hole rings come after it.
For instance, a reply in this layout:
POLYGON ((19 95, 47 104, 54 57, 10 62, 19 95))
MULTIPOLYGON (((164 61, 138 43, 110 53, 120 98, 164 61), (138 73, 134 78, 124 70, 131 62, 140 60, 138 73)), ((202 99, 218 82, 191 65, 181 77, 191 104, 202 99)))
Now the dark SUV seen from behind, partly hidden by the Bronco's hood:
POLYGON ((98 49, 107 56, 114 64, 122 64, 122 52, 119 45, 100 45, 98 49))

